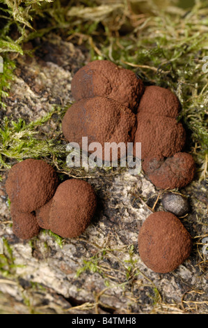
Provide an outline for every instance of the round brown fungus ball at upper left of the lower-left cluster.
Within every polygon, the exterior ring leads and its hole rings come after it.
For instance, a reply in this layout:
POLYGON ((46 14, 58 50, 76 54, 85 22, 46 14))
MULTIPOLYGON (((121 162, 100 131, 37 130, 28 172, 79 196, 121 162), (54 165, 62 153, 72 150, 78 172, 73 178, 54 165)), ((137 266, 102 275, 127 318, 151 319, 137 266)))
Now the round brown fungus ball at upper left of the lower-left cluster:
POLYGON ((51 197, 58 186, 58 177, 45 161, 26 159, 13 165, 6 180, 6 192, 18 211, 32 212, 51 197))

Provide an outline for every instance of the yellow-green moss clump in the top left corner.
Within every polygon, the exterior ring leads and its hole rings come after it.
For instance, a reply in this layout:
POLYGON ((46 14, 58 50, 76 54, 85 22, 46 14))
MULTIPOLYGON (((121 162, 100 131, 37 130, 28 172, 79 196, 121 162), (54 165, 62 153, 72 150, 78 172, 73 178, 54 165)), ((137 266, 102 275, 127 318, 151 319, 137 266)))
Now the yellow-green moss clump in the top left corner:
POLYGON ((24 54, 23 43, 29 31, 33 30, 33 18, 42 15, 42 5, 50 0, 11 1, 0 0, 0 56, 3 58, 3 73, 0 73, 0 108, 5 107, 3 98, 7 96, 13 80, 15 61, 12 54, 24 54))

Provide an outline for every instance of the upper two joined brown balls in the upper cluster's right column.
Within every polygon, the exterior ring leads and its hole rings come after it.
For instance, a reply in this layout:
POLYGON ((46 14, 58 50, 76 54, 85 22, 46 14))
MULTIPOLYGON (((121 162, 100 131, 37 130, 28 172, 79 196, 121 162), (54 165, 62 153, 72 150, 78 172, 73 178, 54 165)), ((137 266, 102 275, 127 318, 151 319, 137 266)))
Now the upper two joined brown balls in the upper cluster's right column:
POLYGON ((134 139, 134 143, 141 142, 142 158, 169 157, 183 149, 186 133, 176 120, 180 108, 179 100, 172 91, 158 86, 145 88, 138 106, 134 139))

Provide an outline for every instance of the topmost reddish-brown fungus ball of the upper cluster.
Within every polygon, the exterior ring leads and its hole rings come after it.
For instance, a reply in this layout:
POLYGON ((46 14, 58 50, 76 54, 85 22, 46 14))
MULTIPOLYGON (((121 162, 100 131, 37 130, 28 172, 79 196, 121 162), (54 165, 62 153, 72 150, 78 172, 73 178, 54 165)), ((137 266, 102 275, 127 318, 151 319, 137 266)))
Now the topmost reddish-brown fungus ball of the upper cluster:
POLYGON ((80 68, 72 79, 71 89, 76 101, 102 96, 131 110, 136 110, 144 91, 142 80, 134 72, 106 60, 92 61, 80 68))

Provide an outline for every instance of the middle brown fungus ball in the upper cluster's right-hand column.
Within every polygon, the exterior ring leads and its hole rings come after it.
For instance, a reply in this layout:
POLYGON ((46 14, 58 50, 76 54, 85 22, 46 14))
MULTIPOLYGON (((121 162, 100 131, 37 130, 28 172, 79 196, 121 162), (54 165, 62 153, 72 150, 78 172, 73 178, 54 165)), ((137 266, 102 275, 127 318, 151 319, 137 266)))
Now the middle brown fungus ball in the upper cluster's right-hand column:
POLYGON ((173 156, 182 150, 186 141, 186 133, 181 123, 171 117, 137 114, 137 130, 134 137, 141 142, 141 158, 150 156, 173 156))

